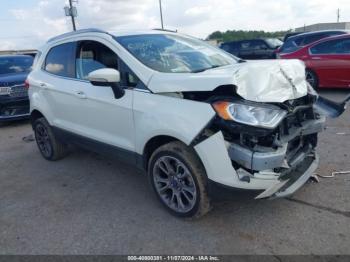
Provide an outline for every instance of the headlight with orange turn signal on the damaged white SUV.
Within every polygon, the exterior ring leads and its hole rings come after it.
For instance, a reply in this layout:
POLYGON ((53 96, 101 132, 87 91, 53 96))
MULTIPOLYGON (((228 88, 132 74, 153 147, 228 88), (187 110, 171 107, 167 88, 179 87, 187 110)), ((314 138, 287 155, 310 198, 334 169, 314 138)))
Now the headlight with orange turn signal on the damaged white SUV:
POLYGON ((219 101, 213 104, 218 115, 225 120, 233 120, 238 123, 274 129, 287 112, 277 107, 255 106, 237 102, 219 101))

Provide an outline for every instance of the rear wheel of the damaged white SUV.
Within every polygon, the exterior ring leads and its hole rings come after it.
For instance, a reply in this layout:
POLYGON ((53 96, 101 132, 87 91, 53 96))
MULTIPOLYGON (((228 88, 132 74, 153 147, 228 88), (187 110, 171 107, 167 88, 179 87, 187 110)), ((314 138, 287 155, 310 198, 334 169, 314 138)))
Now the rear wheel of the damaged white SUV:
POLYGON ((56 161, 67 155, 67 145, 56 138, 44 117, 34 121, 33 129, 39 151, 46 160, 56 161))

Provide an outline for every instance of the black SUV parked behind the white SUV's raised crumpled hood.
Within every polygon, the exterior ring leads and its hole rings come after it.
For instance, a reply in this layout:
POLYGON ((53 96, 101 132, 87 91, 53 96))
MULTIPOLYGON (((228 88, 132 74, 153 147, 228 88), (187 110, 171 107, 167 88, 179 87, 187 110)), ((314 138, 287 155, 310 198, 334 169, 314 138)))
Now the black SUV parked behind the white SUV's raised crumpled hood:
POLYGON ((242 59, 274 59, 283 42, 277 38, 225 42, 220 48, 242 59))

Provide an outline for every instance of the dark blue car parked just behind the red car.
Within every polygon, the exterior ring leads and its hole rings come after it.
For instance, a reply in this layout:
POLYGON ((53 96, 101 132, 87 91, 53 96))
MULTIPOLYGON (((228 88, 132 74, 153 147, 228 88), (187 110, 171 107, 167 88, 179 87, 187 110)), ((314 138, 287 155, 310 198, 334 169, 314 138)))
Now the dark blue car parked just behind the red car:
POLYGON ((281 54, 288 54, 297 51, 298 49, 309 45, 313 42, 316 42, 322 38, 342 35, 349 33, 346 30, 324 30, 324 31, 315 31, 315 32, 307 32, 302 34, 297 34, 295 36, 290 36, 286 39, 286 41, 279 47, 276 51, 277 58, 281 54))

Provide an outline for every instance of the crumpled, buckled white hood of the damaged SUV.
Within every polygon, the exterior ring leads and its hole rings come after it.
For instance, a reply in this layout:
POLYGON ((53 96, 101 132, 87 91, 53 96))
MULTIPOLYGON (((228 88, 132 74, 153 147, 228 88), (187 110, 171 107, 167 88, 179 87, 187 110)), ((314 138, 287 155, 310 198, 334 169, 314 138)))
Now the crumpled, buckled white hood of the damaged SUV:
POLYGON ((234 85, 238 95, 255 102, 297 99, 307 94, 305 66, 299 60, 257 60, 201 73, 156 73, 148 88, 154 93, 212 91, 234 85))

